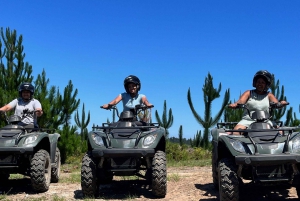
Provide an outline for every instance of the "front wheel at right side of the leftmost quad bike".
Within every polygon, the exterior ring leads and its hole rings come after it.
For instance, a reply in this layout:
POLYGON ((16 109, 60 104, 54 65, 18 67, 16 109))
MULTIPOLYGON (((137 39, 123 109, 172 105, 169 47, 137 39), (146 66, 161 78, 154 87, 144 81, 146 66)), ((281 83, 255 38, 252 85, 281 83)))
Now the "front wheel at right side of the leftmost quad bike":
POLYGON ((51 160, 49 153, 40 149, 30 164, 31 184, 35 191, 45 192, 49 189, 51 179, 51 160))

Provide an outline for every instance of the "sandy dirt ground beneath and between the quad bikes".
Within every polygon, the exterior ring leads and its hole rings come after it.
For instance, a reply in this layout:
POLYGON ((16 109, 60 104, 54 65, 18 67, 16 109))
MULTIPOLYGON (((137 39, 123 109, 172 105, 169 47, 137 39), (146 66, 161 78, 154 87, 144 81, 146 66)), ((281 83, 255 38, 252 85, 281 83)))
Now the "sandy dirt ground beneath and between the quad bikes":
MULTIPOLYGON (((68 177, 63 173, 61 177, 68 177)), ((214 189, 211 177, 211 167, 183 167, 168 168, 168 192, 163 199, 155 199, 149 186, 143 180, 113 181, 112 184, 100 186, 100 196, 95 200, 172 200, 172 201, 216 201, 218 191, 214 189)), ((8 184, 1 184, 1 193, 6 193, 6 200, 83 200, 80 183, 52 183, 49 191, 36 194, 32 191, 30 180, 10 180, 8 184), (9 191, 10 190, 10 191, 9 191), (9 192, 8 192, 9 191, 9 192), (8 193, 7 193, 8 192, 8 193), (57 200, 57 199, 56 199, 57 200)), ((284 186, 261 187, 245 183, 241 200, 269 201, 269 200, 298 200, 295 188, 286 189, 284 186), (275 190, 274 190, 275 188, 275 190)))

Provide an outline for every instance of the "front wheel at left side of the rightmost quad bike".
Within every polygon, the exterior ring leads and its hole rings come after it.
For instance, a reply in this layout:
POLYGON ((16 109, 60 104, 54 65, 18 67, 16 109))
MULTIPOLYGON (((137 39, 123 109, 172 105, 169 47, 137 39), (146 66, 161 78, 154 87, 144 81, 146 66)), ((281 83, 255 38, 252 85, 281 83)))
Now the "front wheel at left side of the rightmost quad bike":
POLYGON ((219 193, 220 201, 239 200, 239 178, 236 167, 231 159, 223 158, 219 162, 219 193))

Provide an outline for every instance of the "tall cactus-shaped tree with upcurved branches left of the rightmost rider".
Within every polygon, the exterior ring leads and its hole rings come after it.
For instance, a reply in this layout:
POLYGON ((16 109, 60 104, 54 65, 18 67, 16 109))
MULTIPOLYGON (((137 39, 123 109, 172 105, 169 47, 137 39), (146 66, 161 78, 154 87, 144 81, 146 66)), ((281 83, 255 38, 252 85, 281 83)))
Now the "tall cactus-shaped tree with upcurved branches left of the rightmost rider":
POLYGON ((219 109, 219 112, 216 114, 214 118, 212 118, 211 109, 212 109, 212 102, 220 97, 220 91, 222 89, 221 83, 219 84, 218 89, 214 88, 213 85, 213 77, 208 73, 207 77, 205 78, 205 83, 203 85, 202 91, 203 91, 203 99, 204 99, 204 118, 202 118, 195 110, 194 105, 192 103, 191 98, 191 91, 190 88, 188 90, 187 99, 189 106, 191 108, 191 111, 196 119, 196 121, 203 126, 204 128, 204 134, 203 134, 203 140, 201 141, 201 147, 208 147, 209 142, 209 128, 216 125, 217 122, 220 120, 221 115, 223 114, 223 111, 225 109, 225 106, 229 102, 230 98, 230 91, 227 89, 225 91, 223 103, 221 105, 221 108, 219 109))

